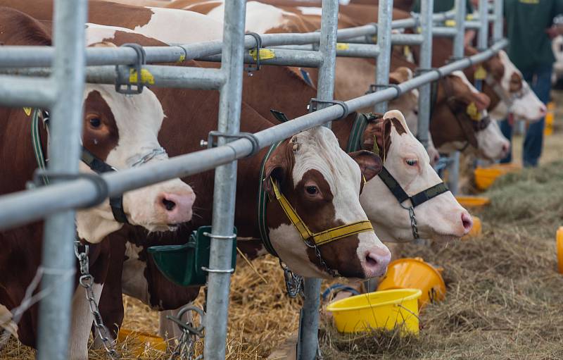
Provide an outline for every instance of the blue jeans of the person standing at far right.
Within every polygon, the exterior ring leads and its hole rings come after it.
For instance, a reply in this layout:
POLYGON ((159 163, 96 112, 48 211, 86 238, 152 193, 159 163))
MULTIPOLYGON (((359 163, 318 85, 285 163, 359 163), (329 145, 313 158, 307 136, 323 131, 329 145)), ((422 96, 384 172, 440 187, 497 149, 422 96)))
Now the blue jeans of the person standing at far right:
MULTIPOLYGON (((524 70, 522 75, 524 80, 529 83, 531 89, 543 104, 548 104, 550 101, 551 91, 551 73, 552 66, 539 66, 533 70, 524 70)), ((545 118, 541 118, 536 123, 531 123, 526 130, 526 137, 524 138, 524 147, 522 149, 522 163, 524 166, 538 166, 538 161, 541 156, 541 149, 543 147, 543 127, 545 125, 545 118)), ((507 120, 500 122, 500 131, 505 135, 510 142, 512 142, 512 125, 507 120)), ((510 153, 502 159, 501 163, 510 163, 512 161, 512 149, 510 153)))

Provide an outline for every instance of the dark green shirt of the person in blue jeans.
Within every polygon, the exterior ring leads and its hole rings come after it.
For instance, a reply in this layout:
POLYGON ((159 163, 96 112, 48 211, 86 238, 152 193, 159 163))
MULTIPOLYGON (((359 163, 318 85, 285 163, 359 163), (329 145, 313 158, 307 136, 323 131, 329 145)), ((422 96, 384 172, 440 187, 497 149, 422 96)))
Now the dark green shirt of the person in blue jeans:
POLYGON ((545 32, 563 13, 563 0, 505 0, 508 56, 520 70, 555 62, 551 39, 545 32))

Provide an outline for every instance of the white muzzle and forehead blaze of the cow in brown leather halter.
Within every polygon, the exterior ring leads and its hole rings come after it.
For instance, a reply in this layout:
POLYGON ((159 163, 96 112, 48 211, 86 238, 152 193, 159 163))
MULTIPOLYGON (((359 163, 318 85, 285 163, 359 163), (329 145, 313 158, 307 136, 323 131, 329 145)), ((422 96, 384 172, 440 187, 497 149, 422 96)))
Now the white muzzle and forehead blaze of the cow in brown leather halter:
MULTIPOLYGON (((469 87, 469 90, 474 94, 479 94, 477 90, 462 71, 454 71, 452 75, 460 77, 462 81, 469 87)), ((483 108, 480 112, 481 118, 488 116, 487 110, 483 108)), ((487 160, 498 160, 506 156, 510 149, 510 142, 502 135, 496 120, 491 120, 491 123, 481 131, 475 132, 477 139, 477 156, 487 160)), ((457 144, 459 145, 459 144, 457 144)), ((463 146, 463 145, 462 145, 463 146)), ((459 149, 459 147, 457 147, 459 149)))

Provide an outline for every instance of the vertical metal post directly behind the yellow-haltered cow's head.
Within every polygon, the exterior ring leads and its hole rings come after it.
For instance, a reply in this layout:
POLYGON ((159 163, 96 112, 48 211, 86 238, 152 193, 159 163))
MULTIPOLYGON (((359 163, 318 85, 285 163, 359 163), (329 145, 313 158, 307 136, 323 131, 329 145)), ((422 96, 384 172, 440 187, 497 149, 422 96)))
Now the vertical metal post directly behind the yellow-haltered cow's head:
MULTIPOLYGON (((334 99, 334 72, 336 67, 336 31, 338 30, 339 1, 322 0, 321 36, 319 51, 322 64, 317 80, 317 99, 334 99)), ((321 105, 321 104, 320 104, 321 105)), ((318 106, 322 108, 324 106, 318 106)), ((330 123, 325 126, 330 128, 330 123)), ((297 359, 317 358, 319 347, 319 307, 321 279, 305 278, 303 309, 299 319, 297 359)))

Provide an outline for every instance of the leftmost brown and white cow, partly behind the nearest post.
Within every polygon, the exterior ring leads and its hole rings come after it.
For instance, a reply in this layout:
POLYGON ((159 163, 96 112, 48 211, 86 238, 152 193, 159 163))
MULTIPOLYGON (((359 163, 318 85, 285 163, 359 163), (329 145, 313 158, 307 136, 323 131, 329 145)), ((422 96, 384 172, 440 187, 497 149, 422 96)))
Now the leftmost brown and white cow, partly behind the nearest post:
MULTIPOLYGON (((42 26, 23 13, 0 8, 0 42, 6 45, 50 45, 51 38, 42 26)), ((87 159, 96 160, 103 168, 118 170, 141 165, 147 161, 167 159, 165 150, 158 143, 158 132, 165 115, 156 95, 146 89, 137 97, 127 97, 115 92, 110 85, 87 85, 83 96, 82 144, 87 159)), ((37 151, 34 152, 31 137, 32 123, 37 121, 42 153, 48 156, 48 112, 41 109, 0 108, 0 194, 20 192, 34 178, 38 167, 37 151)), ((91 173, 99 166, 86 160, 80 170, 91 173)), ((194 191, 179 179, 127 192, 122 197, 122 218, 118 222, 108 200, 90 209, 77 212, 77 237, 82 241, 98 244, 111 232, 122 228, 126 221, 139 225, 145 231, 175 230, 191 220, 194 191)), ((7 251, 0 253, 0 309, 13 310, 25 297, 27 285, 32 282, 41 263, 43 222, 35 222, 19 228, 0 232, 0 242, 7 251)), ((106 275, 108 244, 92 247, 91 273, 94 275, 94 292, 99 298, 106 275), (101 261, 96 263, 96 259, 101 261), (104 260, 105 259, 105 260, 104 260), (96 263, 96 266, 94 266, 96 263)), ((40 274, 40 273, 38 273, 40 274)), ((40 279, 40 278, 39 278, 40 279)), ((77 279, 76 279, 77 280, 77 279)), ((82 289, 80 289, 82 290, 82 289)), ((89 306, 82 291, 76 292, 72 301, 73 311, 80 312, 89 306)), ((91 315, 81 318, 89 331, 91 315)), ((4 317, 3 328, 17 335, 25 345, 35 344, 37 328, 37 304, 18 316, 19 323, 4 317), (7 325, 6 325, 7 324, 7 325)), ((84 333, 84 324, 72 323, 72 332, 84 333)), ((87 334, 86 332, 86 334, 87 334)))

